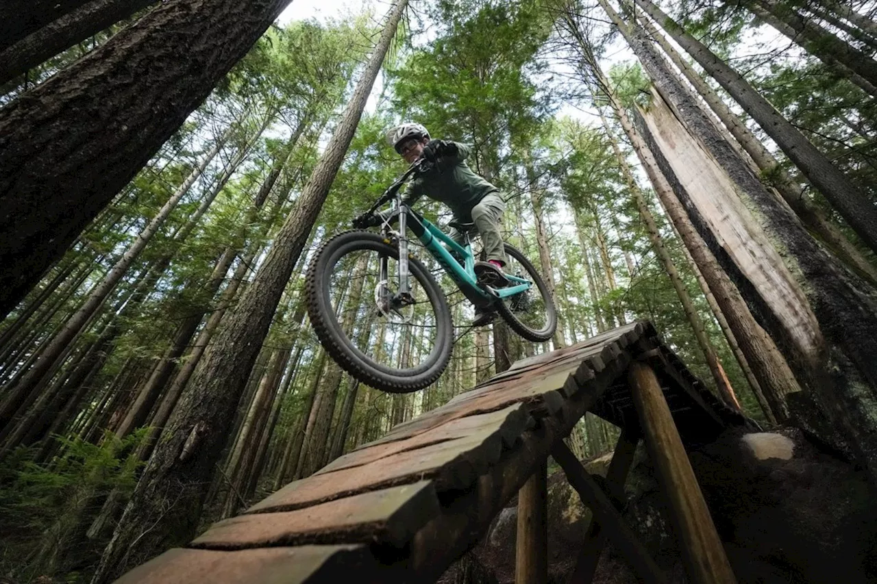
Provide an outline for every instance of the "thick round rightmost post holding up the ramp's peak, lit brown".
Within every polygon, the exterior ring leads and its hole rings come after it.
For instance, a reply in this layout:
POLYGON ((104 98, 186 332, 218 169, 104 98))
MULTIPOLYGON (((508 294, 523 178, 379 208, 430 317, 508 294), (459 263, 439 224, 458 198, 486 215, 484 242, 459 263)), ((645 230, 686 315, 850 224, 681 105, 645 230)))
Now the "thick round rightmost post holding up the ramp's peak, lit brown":
POLYGON ((628 369, 628 382, 645 446, 667 498, 688 579, 692 584, 736 584, 658 378, 652 367, 634 361, 628 369))

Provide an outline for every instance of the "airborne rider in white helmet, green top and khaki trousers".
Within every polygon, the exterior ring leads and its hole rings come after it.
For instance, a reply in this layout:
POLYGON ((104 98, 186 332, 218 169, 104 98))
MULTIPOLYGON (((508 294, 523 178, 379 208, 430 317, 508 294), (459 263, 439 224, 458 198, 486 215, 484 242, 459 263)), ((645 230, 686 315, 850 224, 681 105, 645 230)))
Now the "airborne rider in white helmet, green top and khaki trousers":
MULTIPOLYGON (((474 223, 481 235, 487 261, 475 262, 478 281, 499 288, 509 281, 503 273, 506 264, 503 236, 499 230, 505 201, 496 186, 475 174, 466 163, 469 146, 450 140, 431 139, 423 125, 406 123, 387 132, 387 141, 409 164, 423 157, 432 167, 418 174, 403 193, 403 203, 410 205, 421 196, 445 203, 458 223, 474 223)), ((462 245, 463 233, 452 228, 451 237, 462 245)), ((473 326, 488 324, 496 312, 475 307, 473 326)))

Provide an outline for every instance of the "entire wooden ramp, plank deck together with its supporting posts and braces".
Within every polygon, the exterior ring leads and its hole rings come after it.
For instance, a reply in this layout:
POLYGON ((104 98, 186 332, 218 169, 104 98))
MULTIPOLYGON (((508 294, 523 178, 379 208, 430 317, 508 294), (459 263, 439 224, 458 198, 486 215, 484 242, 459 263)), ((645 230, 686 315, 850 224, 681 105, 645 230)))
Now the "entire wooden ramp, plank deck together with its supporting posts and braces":
POLYGON ((688 580, 730 584, 734 575, 685 448, 739 424, 745 418, 688 372, 652 324, 630 324, 517 361, 117 581, 434 581, 520 491, 516 581, 544 583, 545 464, 551 455, 594 516, 571 581, 592 580, 608 538, 641 581, 663 582, 613 503, 623 499, 643 438, 688 580), (585 472, 561 439, 587 411, 623 429, 604 481, 585 472))

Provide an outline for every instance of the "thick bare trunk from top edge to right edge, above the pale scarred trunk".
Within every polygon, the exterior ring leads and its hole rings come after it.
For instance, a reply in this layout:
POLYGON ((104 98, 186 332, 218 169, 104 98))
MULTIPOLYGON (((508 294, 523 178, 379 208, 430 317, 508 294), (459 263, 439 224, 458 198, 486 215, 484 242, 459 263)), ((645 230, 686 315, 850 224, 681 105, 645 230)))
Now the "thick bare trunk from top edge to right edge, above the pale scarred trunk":
POLYGON ((752 88, 749 82, 720 60, 700 41, 682 30, 681 26, 667 16, 651 0, 636 0, 656 22, 660 22, 674 40, 695 61, 701 64, 739 104, 752 116, 795 163, 816 189, 825 196, 838 213, 873 251, 877 252, 877 208, 845 173, 831 164, 801 132, 791 125, 773 105, 752 88))

